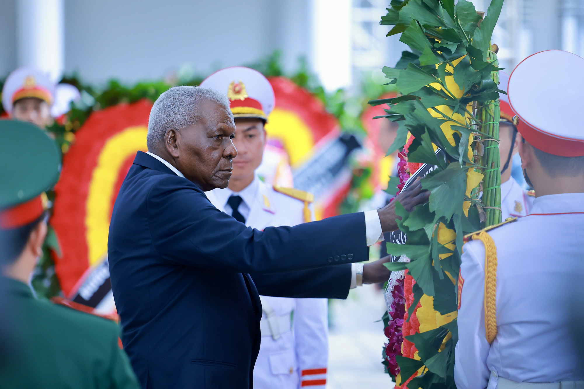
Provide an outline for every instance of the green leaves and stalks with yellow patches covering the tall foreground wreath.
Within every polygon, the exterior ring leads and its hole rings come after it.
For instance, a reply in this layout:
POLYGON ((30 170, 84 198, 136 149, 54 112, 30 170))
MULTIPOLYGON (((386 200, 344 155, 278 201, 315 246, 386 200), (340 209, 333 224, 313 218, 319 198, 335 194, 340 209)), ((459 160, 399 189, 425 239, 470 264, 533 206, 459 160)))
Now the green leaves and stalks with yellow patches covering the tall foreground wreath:
POLYGON ((498 98, 505 92, 498 89, 501 69, 491 35, 502 5, 503 0, 492 0, 482 19, 466 0, 456 5, 454 0, 392 0, 381 18, 382 25, 394 26, 388 36, 401 33, 399 40, 410 48, 395 67, 383 68, 399 96, 370 102, 387 104, 383 117, 399 123, 388 153, 404 147, 411 136, 408 163, 435 166, 422 179, 431 192, 429 203, 412 213, 396 204, 407 241, 388 243, 388 253, 411 262, 387 267, 408 270, 415 280, 407 319, 423 296, 431 297, 427 300, 437 314, 451 318, 405 336, 417 353, 397 357, 401 373, 394 379, 411 389, 456 387, 456 280, 463 237, 481 224, 500 223, 498 98))

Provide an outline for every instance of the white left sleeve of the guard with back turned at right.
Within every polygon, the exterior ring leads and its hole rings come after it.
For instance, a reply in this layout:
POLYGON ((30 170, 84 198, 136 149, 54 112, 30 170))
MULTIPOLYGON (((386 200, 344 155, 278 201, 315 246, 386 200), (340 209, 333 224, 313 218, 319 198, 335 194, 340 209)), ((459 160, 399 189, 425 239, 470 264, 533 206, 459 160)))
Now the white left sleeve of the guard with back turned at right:
POLYGON ((486 358, 491 348, 485 330, 485 249, 481 242, 469 242, 463 252, 454 381, 458 389, 484 389, 489 380, 486 358))

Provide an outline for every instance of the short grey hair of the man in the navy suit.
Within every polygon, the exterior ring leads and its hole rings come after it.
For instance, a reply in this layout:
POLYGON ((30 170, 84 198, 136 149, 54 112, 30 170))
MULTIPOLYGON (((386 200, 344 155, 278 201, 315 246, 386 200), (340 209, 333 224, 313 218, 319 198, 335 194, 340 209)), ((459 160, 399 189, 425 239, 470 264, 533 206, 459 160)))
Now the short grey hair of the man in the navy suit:
POLYGON ((227 95, 200 86, 175 86, 162 93, 154 102, 148 120, 148 147, 164 143, 164 134, 169 128, 190 127, 201 119, 197 109, 203 100, 211 100, 227 109, 231 114, 227 95))

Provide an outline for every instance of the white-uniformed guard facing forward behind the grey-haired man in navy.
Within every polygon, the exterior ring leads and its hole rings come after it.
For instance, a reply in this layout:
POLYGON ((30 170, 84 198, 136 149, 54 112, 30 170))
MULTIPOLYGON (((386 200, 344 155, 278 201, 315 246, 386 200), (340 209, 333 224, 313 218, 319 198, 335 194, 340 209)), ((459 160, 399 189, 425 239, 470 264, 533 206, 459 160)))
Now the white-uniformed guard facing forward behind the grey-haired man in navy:
MULTIPOLYGON (((230 183, 226 189, 206 192, 211 203, 258 230, 314 220, 312 194, 267 185, 256 174, 266 143, 263 126, 274 107, 269 81, 255 70, 232 67, 210 75, 201 86, 227 92, 236 127, 233 141, 238 154, 233 159, 230 183)), ((260 298, 262 340, 253 370, 253 387, 324 388, 328 362, 327 300, 260 298)))

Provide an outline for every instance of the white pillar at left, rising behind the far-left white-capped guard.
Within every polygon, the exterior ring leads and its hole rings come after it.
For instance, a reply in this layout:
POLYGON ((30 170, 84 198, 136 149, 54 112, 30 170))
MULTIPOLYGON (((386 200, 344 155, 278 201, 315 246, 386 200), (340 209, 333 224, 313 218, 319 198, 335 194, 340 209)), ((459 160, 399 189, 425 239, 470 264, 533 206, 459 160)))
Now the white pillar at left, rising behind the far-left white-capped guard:
POLYGON ((18 0, 16 53, 19 66, 33 66, 58 81, 65 67, 64 0, 18 0))

